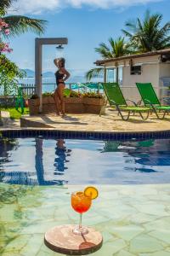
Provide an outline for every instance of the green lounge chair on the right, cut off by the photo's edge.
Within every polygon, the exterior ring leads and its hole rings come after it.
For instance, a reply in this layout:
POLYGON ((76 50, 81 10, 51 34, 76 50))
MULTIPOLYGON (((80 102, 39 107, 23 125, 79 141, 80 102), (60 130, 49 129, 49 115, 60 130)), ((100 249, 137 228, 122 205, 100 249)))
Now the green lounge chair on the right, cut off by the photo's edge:
POLYGON ((157 119, 164 119, 170 112, 170 106, 162 106, 151 83, 136 83, 145 107, 150 107, 156 113, 157 119))

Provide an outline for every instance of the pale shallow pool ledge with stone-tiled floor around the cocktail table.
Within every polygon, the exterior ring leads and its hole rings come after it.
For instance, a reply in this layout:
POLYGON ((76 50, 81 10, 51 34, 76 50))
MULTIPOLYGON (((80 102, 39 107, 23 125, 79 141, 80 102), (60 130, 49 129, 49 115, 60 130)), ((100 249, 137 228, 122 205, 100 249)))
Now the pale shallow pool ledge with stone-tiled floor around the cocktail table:
MULTIPOLYGON (((0 254, 45 256, 44 232, 57 224, 77 224, 71 192, 82 187, 0 185, 0 254)), ((98 186, 99 199, 83 224, 104 236, 97 256, 169 256, 170 185, 98 186)))

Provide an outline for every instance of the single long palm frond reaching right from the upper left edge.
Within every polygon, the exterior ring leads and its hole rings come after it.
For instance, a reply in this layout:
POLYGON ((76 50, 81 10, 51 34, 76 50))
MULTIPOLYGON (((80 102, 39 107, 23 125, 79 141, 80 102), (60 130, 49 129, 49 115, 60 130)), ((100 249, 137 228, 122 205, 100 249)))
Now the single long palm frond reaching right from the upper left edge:
MULTIPOLYGON (((28 31, 35 32, 40 35, 44 32, 47 23, 46 20, 31 19, 20 15, 6 16, 3 20, 9 25, 9 36, 16 36, 28 31)), ((8 37, 5 34, 3 36, 8 37)))

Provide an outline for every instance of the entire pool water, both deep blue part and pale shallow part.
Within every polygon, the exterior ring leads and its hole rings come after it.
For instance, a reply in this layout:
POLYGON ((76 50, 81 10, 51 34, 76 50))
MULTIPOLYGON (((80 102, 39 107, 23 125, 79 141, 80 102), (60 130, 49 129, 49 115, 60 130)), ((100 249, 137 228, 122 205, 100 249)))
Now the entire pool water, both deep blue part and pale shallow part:
POLYGON ((104 237, 94 256, 170 256, 170 140, 0 140, 0 255, 59 256, 44 233, 77 224, 71 193, 99 197, 82 217, 104 237))

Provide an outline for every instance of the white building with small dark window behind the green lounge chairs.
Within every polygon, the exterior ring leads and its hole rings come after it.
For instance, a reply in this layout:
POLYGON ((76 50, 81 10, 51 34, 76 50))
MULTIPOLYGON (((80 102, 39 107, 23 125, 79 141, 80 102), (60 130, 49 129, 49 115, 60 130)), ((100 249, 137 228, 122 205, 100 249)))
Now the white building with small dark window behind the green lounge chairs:
POLYGON ((135 83, 151 83, 153 84, 157 96, 163 96, 161 78, 170 78, 170 63, 161 63, 160 55, 145 56, 133 59, 133 65, 141 65, 141 75, 131 75, 130 59, 117 62, 107 62, 105 67, 115 67, 115 64, 122 67, 122 92, 127 99, 139 102, 141 97, 135 83))

